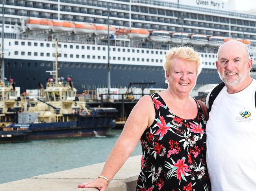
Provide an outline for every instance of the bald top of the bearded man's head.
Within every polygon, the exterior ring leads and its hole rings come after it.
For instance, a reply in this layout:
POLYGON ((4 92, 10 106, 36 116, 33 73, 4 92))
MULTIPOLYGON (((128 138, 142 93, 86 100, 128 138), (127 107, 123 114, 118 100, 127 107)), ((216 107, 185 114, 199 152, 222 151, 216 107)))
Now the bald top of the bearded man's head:
POLYGON ((247 59, 250 58, 249 50, 247 45, 243 44, 242 42, 238 40, 229 40, 228 42, 225 42, 223 45, 219 47, 218 50, 218 60, 219 60, 219 55, 222 52, 226 51, 237 51, 241 53, 241 55, 246 56, 247 59))

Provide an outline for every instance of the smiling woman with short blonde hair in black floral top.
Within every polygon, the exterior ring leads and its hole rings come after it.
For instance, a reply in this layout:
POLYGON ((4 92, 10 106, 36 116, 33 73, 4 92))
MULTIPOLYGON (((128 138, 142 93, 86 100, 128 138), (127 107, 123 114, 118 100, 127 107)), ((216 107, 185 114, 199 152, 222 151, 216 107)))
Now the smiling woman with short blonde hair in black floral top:
POLYGON ((200 56, 191 47, 167 51, 168 88, 139 100, 101 176, 78 187, 105 191, 140 140, 143 154, 136 190, 207 191, 206 120, 200 105, 206 106, 189 97, 201 68, 200 56))

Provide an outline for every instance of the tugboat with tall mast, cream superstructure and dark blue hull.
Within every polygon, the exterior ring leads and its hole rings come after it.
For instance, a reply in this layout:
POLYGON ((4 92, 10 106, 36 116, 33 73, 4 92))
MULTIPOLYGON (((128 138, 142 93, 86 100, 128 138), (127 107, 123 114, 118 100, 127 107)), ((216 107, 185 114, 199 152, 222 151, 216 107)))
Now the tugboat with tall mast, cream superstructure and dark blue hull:
POLYGON ((41 88, 40 98, 29 102, 28 112, 19 113, 18 123, 8 128, 27 129, 28 140, 105 135, 115 126, 117 109, 88 107, 76 97, 71 78, 58 80, 57 41, 55 47, 53 78, 41 88))

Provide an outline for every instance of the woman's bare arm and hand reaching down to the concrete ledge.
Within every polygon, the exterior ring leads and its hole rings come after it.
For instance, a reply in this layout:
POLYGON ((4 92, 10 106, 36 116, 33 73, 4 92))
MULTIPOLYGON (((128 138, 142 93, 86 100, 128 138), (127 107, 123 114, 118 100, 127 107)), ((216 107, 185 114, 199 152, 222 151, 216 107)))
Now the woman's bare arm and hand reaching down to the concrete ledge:
MULTIPOLYGON (((108 159, 100 175, 113 179, 117 171, 122 167, 127 158, 132 154, 141 135, 154 122, 155 111, 150 96, 143 96, 132 109, 124 129, 118 138, 115 146, 111 150, 108 159)), ((108 182, 103 178, 97 178, 90 182, 80 184, 78 187, 96 187, 100 191, 105 191, 108 182)))

